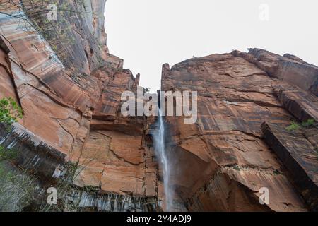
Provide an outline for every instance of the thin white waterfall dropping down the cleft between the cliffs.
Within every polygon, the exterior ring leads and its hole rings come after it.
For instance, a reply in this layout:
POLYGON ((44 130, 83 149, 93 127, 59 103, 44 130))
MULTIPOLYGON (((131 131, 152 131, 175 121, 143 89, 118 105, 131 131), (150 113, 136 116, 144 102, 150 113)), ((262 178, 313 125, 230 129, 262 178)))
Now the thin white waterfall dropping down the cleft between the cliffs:
POLYGON ((172 207, 172 194, 170 189, 170 165, 167 158, 167 149, 165 148, 165 123, 163 114, 158 110, 158 132, 154 134, 155 153, 160 160, 160 165, 163 168, 163 186, 165 191, 165 208, 167 211, 172 207))

